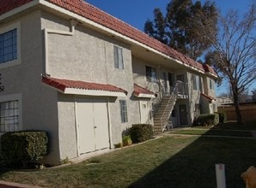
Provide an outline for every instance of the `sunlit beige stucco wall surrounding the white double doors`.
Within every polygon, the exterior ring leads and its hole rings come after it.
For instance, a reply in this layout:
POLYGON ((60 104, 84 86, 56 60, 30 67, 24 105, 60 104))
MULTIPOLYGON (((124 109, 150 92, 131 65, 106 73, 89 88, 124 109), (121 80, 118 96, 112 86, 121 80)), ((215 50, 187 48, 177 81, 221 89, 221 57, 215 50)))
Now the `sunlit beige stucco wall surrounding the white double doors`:
MULTIPOLYGON (((42 14, 42 29, 70 31, 70 21, 47 13, 42 14)), ((131 68, 130 45, 112 37, 94 32, 85 26, 76 25, 74 36, 48 34, 47 73, 52 77, 77 79, 86 82, 115 85, 128 91, 127 97, 109 97, 109 117, 111 140, 113 144, 121 141, 122 132, 134 123, 139 122, 137 98, 133 97, 133 76, 131 68), (113 46, 123 49, 124 70, 114 68, 113 46), (119 100, 127 101, 128 122, 121 123, 119 100)), ((74 132, 73 103, 71 98, 62 96, 58 102, 59 140, 61 157, 76 156, 75 136, 65 132, 74 132), (65 98, 65 99, 64 99, 65 98), (73 121, 73 122, 72 122, 73 121), (64 128, 64 129, 62 129, 64 128), (73 137, 74 136, 74 137, 73 137), (72 150, 68 143, 72 140, 72 150), (74 150, 73 150, 74 149, 74 150)))

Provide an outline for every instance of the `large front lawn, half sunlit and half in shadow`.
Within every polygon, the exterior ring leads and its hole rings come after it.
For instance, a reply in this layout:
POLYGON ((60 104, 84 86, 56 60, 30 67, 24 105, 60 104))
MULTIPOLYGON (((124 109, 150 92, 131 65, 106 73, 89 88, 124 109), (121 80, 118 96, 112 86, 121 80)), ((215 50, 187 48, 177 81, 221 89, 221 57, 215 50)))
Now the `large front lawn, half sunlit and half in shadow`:
POLYGON ((256 141, 165 136, 87 162, 41 171, 1 169, 0 179, 46 187, 216 187, 215 164, 226 165, 227 187, 245 187, 256 166, 256 141))

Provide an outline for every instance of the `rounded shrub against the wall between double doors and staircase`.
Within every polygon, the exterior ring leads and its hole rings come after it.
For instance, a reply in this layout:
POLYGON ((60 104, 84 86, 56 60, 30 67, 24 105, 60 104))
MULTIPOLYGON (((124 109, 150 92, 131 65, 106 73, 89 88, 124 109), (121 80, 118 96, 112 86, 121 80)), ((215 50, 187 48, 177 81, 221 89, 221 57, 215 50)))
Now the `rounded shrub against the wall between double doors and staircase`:
POLYGON ((135 124, 130 128, 132 143, 140 143, 153 137, 153 126, 149 124, 135 124))

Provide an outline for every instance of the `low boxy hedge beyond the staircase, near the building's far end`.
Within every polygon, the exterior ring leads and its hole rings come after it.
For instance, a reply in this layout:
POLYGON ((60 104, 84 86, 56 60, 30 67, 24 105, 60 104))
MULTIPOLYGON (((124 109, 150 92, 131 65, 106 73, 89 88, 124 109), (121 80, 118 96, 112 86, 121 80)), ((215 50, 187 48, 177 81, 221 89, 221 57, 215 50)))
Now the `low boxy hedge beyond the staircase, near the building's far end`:
POLYGON ((216 126, 219 123, 218 114, 202 114, 198 116, 198 126, 216 126))

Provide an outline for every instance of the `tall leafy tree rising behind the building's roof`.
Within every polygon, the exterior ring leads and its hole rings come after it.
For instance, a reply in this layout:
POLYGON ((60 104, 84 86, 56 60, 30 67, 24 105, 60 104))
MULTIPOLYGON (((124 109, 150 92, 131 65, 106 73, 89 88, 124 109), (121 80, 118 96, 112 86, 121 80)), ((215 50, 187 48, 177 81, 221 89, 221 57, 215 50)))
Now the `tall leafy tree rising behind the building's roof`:
POLYGON ((197 60, 211 46, 206 35, 216 36, 218 11, 209 1, 171 0, 164 16, 154 10, 154 21, 146 21, 144 32, 197 60))

